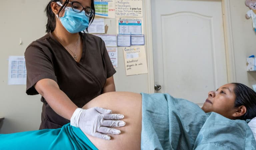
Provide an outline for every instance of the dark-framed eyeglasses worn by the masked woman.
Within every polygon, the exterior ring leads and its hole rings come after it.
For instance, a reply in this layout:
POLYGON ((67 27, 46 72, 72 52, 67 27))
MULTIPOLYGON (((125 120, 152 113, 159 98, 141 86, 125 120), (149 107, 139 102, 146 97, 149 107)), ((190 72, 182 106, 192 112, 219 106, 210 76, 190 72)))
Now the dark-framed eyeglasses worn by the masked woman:
MULTIPOLYGON (((61 3, 64 3, 64 2, 61 2, 61 3)), ((76 2, 76 1, 72 1, 72 2, 68 2, 69 5, 71 5, 72 9, 75 11, 75 12, 81 12, 81 11, 85 11, 85 15, 87 17, 92 17, 94 11, 93 9, 91 9, 91 7, 86 7, 84 8, 82 6, 82 4, 80 4, 79 2, 76 2)))

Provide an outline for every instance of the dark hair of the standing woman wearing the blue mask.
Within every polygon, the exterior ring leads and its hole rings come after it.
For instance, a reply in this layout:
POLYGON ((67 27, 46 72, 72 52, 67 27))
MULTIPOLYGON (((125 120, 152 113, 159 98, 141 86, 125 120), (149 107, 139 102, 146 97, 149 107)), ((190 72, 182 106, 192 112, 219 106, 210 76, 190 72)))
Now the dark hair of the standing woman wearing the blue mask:
MULTIPOLYGON (((51 3, 58 2, 58 1, 60 1, 60 0, 51 0, 45 8, 45 13, 47 16, 47 24, 46 24, 46 32, 47 33, 52 32, 56 27, 56 19, 55 19, 56 17, 52 11, 51 3)), ((62 3, 63 6, 60 8, 58 14, 67 6, 69 0, 63 0, 61 2, 64 2, 64 3, 62 3)), ((91 9, 93 9, 94 13, 93 13, 92 17, 90 17, 90 19, 89 19, 90 24, 93 22, 93 19, 95 16, 94 0, 91 0, 91 9)), ((86 30, 88 31, 88 28, 86 28, 86 30)))

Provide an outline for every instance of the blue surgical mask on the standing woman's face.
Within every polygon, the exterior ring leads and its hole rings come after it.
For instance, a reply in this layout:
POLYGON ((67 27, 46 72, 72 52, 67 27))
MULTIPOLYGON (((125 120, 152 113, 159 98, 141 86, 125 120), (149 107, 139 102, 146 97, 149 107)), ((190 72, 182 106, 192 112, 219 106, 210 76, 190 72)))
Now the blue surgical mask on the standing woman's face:
MULTIPOLYGON (((60 6, 63 6, 60 2, 57 2, 60 6)), ((75 12, 71 7, 65 8, 65 14, 63 17, 56 15, 64 28, 69 33, 78 33, 84 31, 89 26, 89 17, 85 15, 85 11, 75 12)))

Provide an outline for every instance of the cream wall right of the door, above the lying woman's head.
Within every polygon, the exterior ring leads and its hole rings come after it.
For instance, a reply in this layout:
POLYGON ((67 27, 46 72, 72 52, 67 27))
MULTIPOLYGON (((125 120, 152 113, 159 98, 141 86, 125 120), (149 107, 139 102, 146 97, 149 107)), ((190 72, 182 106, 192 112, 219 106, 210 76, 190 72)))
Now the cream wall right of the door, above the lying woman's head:
POLYGON ((246 71, 246 57, 256 55, 256 32, 252 27, 252 20, 245 18, 249 7, 245 5, 245 0, 230 0, 230 10, 236 72, 235 81, 252 88, 252 84, 256 84, 256 72, 246 71))

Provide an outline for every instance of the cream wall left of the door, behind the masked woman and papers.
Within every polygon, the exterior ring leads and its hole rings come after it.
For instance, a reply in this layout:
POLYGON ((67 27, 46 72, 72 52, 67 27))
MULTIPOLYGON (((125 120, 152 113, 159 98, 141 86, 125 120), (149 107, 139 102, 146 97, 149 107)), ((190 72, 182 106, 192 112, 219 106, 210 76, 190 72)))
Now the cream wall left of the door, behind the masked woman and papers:
MULTIPOLYGON (((8 57, 24 56, 26 47, 32 41, 46 34, 47 20, 44 9, 48 2, 49 0, 1 1, 0 118, 5 117, 5 119, 0 121, 0 134, 39 128, 42 107, 40 95, 26 95, 25 85, 8 85, 8 57), (23 41, 22 45, 19 45, 20 38, 23 41)), ((106 19, 106 23, 109 26, 107 34, 116 34, 115 19, 106 19)), ((122 47, 118 48, 118 68, 116 71, 114 80, 117 91, 148 93, 147 74, 126 76, 122 47)))

